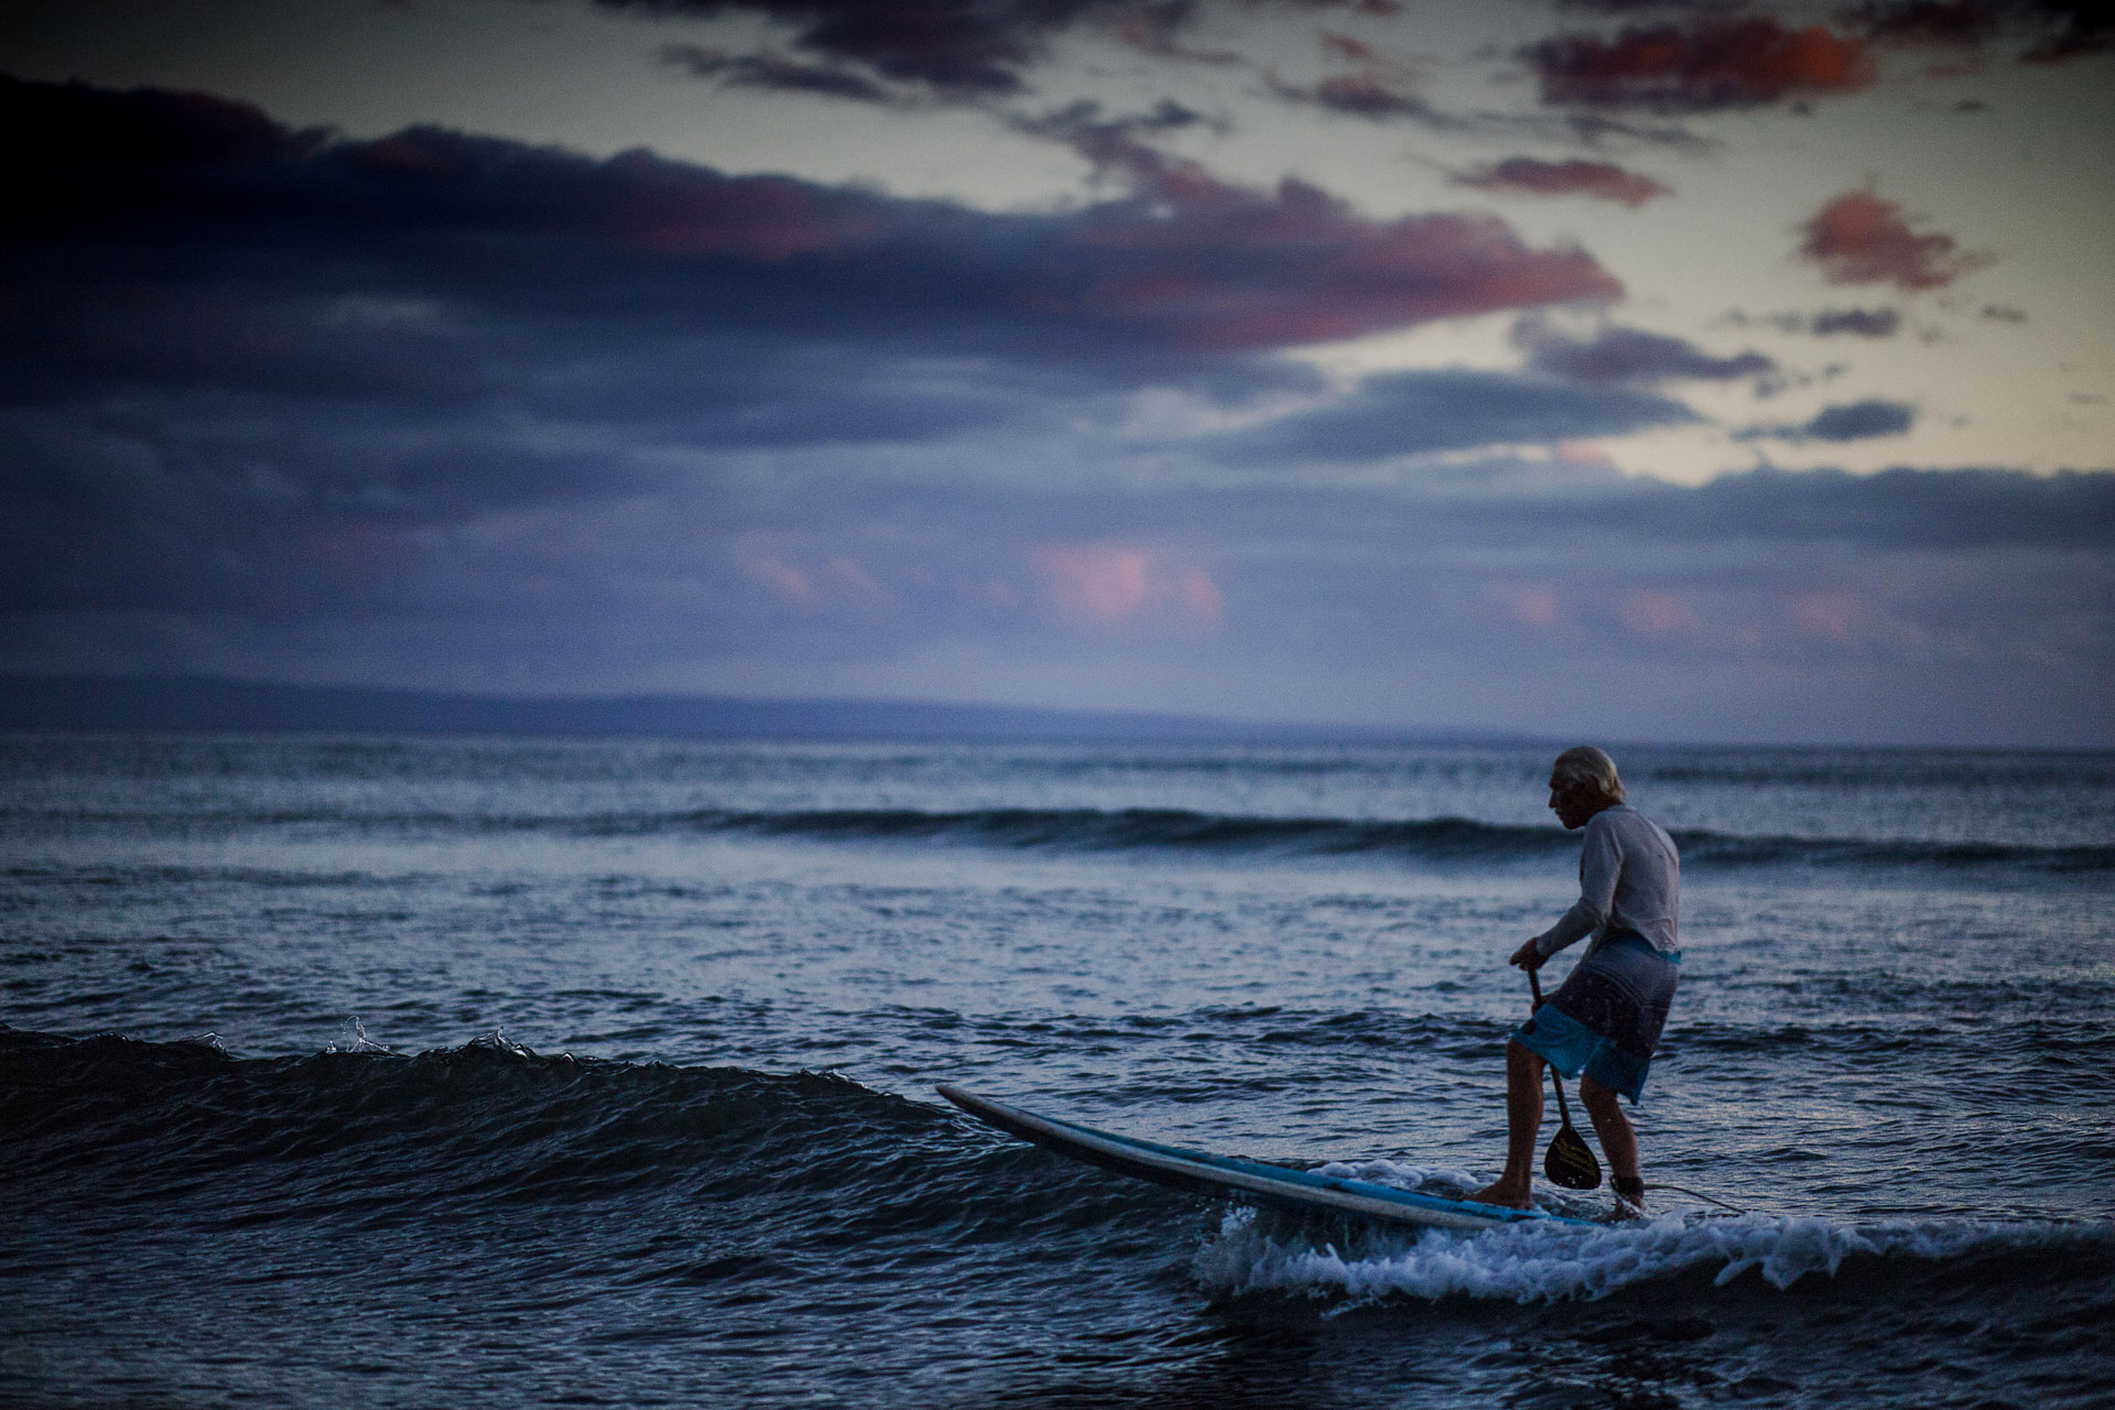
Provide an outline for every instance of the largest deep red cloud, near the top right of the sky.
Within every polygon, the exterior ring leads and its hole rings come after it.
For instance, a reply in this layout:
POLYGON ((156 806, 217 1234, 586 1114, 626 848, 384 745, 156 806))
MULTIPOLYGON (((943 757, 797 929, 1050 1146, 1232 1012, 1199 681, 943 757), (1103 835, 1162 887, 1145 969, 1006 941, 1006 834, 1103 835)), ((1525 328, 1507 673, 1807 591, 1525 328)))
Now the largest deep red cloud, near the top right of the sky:
POLYGON ((1859 38, 1774 19, 1652 25, 1616 38, 1571 34, 1527 51, 1542 101, 1582 108, 1717 112, 1791 97, 1849 93, 1874 78, 1859 38))

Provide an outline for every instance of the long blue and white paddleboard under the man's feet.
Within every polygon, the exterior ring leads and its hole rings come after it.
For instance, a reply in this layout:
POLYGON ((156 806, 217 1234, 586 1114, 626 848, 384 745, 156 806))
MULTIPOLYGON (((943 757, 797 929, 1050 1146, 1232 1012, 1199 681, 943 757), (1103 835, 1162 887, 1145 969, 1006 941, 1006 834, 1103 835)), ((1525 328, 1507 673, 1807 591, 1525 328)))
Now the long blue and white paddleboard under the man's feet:
POLYGON ((1248 1199, 1288 1209, 1332 1209, 1339 1213, 1362 1213, 1392 1224, 1423 1224, 1430 1228, 1495 1228, 1500 1224, 1552 1222, 1590 1224, 1544 1209, 1504 1209, 1500 1205, 1478 1205, 1466 1199, 1445 1199, 1440 1194, 1419 1194, 1398 1190, 1368 1180, 1345 1180, 1341 1175, 1318 1175, 1263 1161, 1242 1161, 1237 1156, 1214 1156, 1203 1150, 1180 1146, 1157 1146, 1129 1135, 1096 1131, 1070 1120, 1036 1116, 1005 1101, 992 1101, 941 1084, 939 1095, 1007 1135, 1034 1142, 1062 1156, 1100 1165, 1102 1169, 1138 1180, 1151 1180, 1176 1190, 1216 1194, 1220 1199, 1248 1199))

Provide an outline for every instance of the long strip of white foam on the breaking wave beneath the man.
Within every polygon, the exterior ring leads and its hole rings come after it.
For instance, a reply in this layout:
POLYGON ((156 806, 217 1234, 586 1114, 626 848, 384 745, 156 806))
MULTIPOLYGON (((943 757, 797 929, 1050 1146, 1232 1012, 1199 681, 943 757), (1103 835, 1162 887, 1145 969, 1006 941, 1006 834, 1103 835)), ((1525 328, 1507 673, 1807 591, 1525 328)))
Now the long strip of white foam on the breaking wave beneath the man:
MULTIPOLYGON (((1349 1171, 1345 1171, 1349 1173, 1349 1171)), ((1390 1296, 1557 1302, 1605 1298, 1620 1287, 1692 1268, 1726 1285, 1747 1270, 1772 1287, 1834 1277, 1853 1254, 1952 1258, 1984 1243, 2041 1241, 2060 1226, 1927 1220, 1834 1224, 1823 1218, 1665 1213, 1612 1228, 1504 1224, 1485 1232, 1358 1235, 1358 1247, 1277 1237, 1252 1209, 1231 1209, 1195 1258, 1197 1281, 1218 1296, 1292 1292, 1347 1300, 1390 1296)))

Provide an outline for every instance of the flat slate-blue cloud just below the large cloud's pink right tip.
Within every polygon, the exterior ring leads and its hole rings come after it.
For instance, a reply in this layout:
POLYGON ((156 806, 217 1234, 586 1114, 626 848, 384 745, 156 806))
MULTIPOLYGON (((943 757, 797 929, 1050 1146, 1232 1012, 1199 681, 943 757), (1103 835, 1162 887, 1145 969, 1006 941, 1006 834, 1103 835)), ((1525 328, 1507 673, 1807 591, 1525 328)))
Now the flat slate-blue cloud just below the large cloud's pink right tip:
POLYGON ((1694 421, 1679 402, 1504 372, 1383 372, 1343 402, 1222 435, 1227 461, 1377 461, 1694 421))

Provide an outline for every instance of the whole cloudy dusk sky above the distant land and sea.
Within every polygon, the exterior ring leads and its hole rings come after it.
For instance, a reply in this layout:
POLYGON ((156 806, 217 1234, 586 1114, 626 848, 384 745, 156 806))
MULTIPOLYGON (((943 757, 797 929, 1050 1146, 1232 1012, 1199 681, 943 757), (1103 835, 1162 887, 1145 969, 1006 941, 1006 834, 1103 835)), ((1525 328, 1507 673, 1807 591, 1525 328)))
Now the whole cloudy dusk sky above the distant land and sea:
POLYGON ((0 670, 2115 746, 2054 0, 17 0, 0 670))

